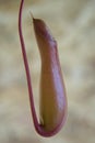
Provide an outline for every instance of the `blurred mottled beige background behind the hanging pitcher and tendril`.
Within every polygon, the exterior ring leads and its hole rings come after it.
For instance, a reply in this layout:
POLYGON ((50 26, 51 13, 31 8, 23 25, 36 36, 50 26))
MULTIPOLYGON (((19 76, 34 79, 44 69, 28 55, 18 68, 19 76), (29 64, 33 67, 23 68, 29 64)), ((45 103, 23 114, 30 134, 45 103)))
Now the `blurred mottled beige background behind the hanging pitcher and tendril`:
POLYGON ((95 0, 25 0, 23 33, 36 112, 40 58, 29 12, 58 42, 68 119, 54 138, 33 125, 17 31, 20 0, 0 0, 0 143, 95 143, 95 0))

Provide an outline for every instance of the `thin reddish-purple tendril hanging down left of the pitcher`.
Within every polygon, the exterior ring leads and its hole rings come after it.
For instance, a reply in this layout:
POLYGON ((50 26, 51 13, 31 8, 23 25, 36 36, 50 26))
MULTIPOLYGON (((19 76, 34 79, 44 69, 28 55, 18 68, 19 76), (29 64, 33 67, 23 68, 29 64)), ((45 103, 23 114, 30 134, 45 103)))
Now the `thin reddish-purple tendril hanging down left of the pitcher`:
POLYGON ((21 6, 20 6, 20 13, 19 13, 19 34, 20 34, 22 54, 23 54, 24 66, 25 66, 26 78, 27 78, 27 86, 28 86, 28 94, 29 94, 29 100, 31 100, 31 109, 32 109, 32 114, 33 114, 33 121, 34 121, 36 130, 38 130, 39 124, 38 124, 38 121, 37 121, 37 116, 36 116, 35 107, 34 107, 34 99, 33 99, 33 90, 32 90, 32 82, 31 82, 29 66, 28 66, 28 62, 27 62, 27 56, 26 56, 26 51, 25 51, 25 44, 24 44, 24 38, 23 38, 23 33, 22 33, 22 10, 23 10, 23 3, 24 3, 24 0, 21 1, 21 6))

